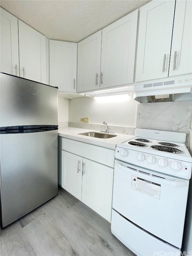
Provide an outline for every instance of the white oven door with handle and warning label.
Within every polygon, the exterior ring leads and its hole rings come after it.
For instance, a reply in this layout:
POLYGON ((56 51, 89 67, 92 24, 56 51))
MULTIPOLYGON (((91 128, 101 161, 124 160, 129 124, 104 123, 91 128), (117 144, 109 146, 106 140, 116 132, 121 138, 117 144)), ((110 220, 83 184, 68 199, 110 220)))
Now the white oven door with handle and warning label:
POLYGON ((113 209, 181 248, 189 181, 115 160, 113 209))

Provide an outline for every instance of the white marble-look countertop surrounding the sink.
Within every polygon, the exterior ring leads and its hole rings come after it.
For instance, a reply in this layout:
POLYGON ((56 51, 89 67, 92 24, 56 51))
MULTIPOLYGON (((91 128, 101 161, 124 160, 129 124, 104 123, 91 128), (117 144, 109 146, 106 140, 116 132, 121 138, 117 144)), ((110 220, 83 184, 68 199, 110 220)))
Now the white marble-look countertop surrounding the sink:
POLYGON ((116 148, 116 144, 125 142, 135 137, 134 135, 112 133, 117 136, 109 139, 100 139, 100 138, 88 137, 88 136, 78 134, 83 132, 100 132, 100 131, 74 128, 74 127, 61 127, 61 128, 59 127, 58 136, 71 139, 71 140, 77 140, 80 142, 89 143, 89 144, 104 147, 104 148, 113 149, 113 150, 116 148))

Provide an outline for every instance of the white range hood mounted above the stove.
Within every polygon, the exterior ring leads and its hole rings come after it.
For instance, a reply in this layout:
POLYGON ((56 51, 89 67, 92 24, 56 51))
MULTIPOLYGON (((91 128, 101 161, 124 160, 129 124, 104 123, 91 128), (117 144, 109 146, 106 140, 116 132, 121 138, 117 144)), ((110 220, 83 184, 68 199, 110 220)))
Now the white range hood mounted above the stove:
POLYGON ((141 103, 192 100, 192 74, 136 83, 134 99, 141 103))

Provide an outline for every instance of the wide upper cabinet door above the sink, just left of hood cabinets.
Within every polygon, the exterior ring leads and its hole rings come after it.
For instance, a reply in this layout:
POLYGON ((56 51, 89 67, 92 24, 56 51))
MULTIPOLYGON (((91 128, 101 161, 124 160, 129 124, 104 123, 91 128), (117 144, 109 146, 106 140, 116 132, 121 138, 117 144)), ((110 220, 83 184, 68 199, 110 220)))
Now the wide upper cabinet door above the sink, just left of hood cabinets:
POLYGON ((133 83, 138 10, 102 29, 100 87, 133 83))

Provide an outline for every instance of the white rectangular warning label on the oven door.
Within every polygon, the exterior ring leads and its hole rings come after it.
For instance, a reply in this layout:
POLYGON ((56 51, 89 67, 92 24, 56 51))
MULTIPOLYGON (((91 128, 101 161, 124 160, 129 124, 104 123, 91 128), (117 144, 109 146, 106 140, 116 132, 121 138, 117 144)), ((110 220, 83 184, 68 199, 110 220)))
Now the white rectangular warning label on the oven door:
POLYGON ((145 195, 160 199, 161 185, 132 175, 131 188, 145 195))

